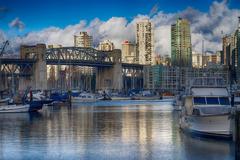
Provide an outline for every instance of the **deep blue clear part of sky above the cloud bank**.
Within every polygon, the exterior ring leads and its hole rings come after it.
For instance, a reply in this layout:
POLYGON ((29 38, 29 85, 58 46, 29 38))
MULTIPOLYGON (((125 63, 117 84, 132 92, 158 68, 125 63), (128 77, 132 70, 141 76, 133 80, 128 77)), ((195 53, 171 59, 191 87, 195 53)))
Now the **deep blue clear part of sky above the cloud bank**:
MULTIPOLYGON (((230 8, 240 8, 239 0, 230 0, 230 8)), ((49 26, 64 28, 80 20, 94 18, 103 21, 111 17, 133 19, 138 14, 147 15, 154 5, 165 13, 176 13, 187 7, 207 12, 212 0, 1 0, 0 7, 8 9, 1 15, 0 26, 10 29, 9 23, 18 17, 24 24, 24 33, 49 26), (204 3, 203 3, 204 1, 204 3)))

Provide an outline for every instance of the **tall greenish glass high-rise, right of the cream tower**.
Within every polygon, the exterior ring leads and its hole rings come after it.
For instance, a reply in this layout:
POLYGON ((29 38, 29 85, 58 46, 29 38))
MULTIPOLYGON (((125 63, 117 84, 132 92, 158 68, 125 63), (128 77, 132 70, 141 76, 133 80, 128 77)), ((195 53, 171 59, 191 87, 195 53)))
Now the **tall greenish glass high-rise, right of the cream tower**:
POLYGON ((179 18, 171 26, 171 59, 173 66, 192 67, 191 31, 186 19, 179 18))

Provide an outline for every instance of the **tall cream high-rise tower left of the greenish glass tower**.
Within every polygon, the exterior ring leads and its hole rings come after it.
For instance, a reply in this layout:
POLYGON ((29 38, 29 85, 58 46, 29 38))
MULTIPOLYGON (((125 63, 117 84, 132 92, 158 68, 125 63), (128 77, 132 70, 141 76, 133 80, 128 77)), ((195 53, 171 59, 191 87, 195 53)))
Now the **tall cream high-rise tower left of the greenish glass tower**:
POLYGON ((140 64, 152 64, 154 53, 153 24, 142 20, 136 24, 136 57, 140 64))

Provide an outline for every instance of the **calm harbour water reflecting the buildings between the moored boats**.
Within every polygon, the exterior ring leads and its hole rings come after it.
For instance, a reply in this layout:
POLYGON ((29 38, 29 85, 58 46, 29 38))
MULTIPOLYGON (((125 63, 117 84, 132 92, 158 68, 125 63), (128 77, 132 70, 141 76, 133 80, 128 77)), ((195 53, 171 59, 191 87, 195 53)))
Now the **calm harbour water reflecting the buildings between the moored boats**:
POLYGON ((101 102, 0 114, 0 159, 234 159, 234 144, 179 131, 163 102, 101 102))

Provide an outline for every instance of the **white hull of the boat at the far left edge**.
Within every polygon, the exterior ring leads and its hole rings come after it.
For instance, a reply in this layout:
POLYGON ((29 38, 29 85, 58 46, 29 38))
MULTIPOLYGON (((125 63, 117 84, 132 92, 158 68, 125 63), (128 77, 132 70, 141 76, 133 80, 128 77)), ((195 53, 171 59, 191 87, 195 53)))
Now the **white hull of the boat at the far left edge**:
POLYGON ((28 112, 30 106, 26 105, 4 105, 0 106, 0 113, 18 113, 18 112, 28 112))

